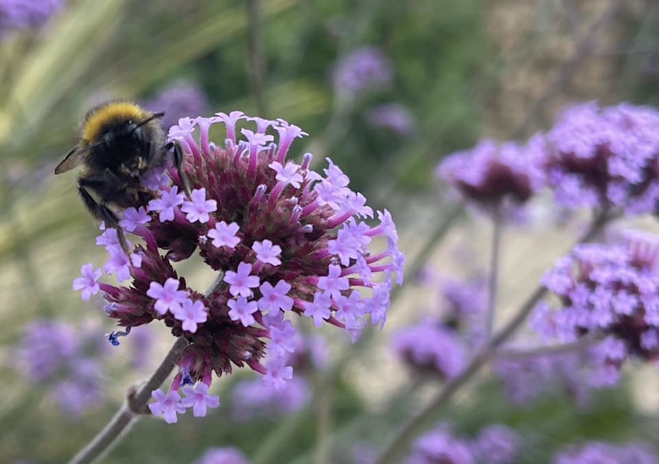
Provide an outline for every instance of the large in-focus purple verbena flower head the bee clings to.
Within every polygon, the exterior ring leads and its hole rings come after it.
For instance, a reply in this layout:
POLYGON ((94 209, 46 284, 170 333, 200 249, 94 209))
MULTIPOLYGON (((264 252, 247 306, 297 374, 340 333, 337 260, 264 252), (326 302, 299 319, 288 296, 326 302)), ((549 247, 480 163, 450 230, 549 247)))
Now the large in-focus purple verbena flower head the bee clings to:
MULTIPOLYGON (((221 375, 246 365, 271 388, 284 388, 292 378, 286 360, 297 334, 288 320, 292 314, 354 336, 368 316, 373 325, 386 320, 393 275, 400 285, 404 264, 391 214, 377 211, 375 227, 364 222, 373 218, 373 210, 331 160, 325 176, 310 170, 311 154, 303 156, 301 165, 286 161, 291 143, 303 135, 283 119, 246 117, 238 111, 180 119, 169 137, 187 154, 183 169, 192 198, 181 193, 183 184, 173 167, 147 176, 144 185, 156 197, 146 207, 126 209, 120 222, 143 244, 127 256, 114 229, 97 239, 110 257, 105 272, 130 286, 100 283, 99 272, 89 264, 76 280, 83 298, 102 291, 106 314, 119 325, 161 320, 175 337, 189 341, 170 393, 158 393, 152 404, 168 421, 181 412, 178 388, 198 381, 209 386, 213 371, 221 375), (241 120, 255 125, 255 130, 242 128, 244 139, 237 137, 241 120), (217 123, 226 128, 223 146, 209 141, 209 128, 217 123), (278 135, 278 143, 268 130, 278 135), (386 247, 371 253, 375 239, 386 247), (172 267, 197 248, 218 272, 205 294, 189 288, 172 267)), ((111 341, 118 343, 117 335, 111 334, 111 341)))

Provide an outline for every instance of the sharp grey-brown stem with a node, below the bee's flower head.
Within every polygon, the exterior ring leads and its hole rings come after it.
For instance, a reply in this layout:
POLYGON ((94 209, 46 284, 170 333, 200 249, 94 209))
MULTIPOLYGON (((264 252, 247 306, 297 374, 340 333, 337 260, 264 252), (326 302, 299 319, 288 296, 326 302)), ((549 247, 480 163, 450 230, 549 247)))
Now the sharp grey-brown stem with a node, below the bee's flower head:
POLYGON ((92 441, 89 442, 76 456, 73 456, 69 464, 91 463, 98 457, 108 452, 115 445, 122 434, 128 430, 132 422, 143 414, 146 410, 146 404, 151 397, 151 391, 155 390, 169 377, 172 369, 176 366, 176 361, 181 356, 183 350, 188 346, 185 337, 179 337, 174 342, 160 363, 156 371, 151 375, 149 380, 143 384, 134 394, 129 393, 126 402, 115 417, 101 430, 92 441))

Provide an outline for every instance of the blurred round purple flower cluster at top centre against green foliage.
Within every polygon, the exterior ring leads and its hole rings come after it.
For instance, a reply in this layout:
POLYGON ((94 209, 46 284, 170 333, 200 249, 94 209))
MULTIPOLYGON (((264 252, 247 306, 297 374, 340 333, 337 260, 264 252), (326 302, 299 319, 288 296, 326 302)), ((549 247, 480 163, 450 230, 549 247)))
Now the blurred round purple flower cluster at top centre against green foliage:
POLYGON ((393 80, 393 67, 376 47, 361 47, 341 57, 334 69, 334 89, 345 97, 371 90, 386 90, 393 80))

